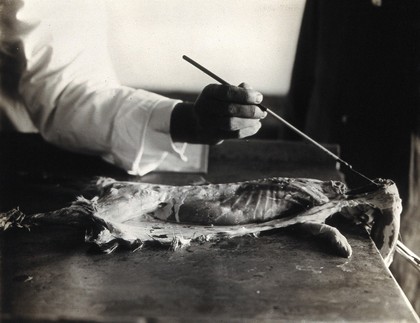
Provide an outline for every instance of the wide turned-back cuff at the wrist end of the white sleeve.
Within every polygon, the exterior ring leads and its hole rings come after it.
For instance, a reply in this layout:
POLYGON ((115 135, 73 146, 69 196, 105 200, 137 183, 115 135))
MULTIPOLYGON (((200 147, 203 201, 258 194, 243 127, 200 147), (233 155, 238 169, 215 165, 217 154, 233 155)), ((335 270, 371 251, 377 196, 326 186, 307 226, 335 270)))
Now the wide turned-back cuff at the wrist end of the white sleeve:
POLYGON ((185 163, 187 145, 175 144, 170 134, 172 111, 181 101, 125 87, 118 93, 115 105, 120 108, 109 139, 110 152, 102 157, 140 176, 165 164, 167 157, 185 163))

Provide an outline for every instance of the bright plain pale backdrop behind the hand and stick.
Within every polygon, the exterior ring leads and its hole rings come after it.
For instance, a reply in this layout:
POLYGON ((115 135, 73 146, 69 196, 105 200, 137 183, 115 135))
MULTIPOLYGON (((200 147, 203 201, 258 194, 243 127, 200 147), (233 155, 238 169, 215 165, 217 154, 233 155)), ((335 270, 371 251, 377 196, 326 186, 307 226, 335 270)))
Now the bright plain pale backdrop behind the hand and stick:
POLYGON ((112 59, 121 81, 198 91, 214 82, 188 55, 232 84, 266 94, 290 83, 305 0, 108 0, 112 59))

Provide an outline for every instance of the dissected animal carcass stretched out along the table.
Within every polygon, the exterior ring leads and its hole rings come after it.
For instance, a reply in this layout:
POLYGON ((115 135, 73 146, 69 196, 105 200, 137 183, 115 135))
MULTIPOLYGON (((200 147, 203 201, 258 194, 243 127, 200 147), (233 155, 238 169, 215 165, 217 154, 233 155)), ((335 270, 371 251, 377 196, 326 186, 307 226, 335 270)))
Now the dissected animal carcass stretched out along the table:
POLYGON ((147 242, 182 247, 300 225, 325 235, 349 257, 346 238, 325 223, 341 215, 365 226, 387 265, 392 262, 402 211, 390 180, 349 190, 338 181, 267 178, 239 183, 170 186, 101 178, 98 196, 79 198, 71 206, 48 213, 0 215, 0 228, 42 223, 76 224, 86 240, 105 252, 117 246, 139 248, 147 242))

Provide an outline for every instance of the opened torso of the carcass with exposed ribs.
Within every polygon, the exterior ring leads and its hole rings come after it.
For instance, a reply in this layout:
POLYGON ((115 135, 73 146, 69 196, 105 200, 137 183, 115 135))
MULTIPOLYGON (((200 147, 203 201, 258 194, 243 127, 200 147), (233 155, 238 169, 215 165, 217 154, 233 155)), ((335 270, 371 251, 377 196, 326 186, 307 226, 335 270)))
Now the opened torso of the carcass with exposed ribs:
POLYGON ((104 183, 99 205, 109 208, 122 200, 138 204, 130 207, 136 210, 133 214, 127 210, 127 219, 147 215, 165 221, 205 225, 265 222, 297 214, 343 197, 345 189, 341 182, 290 178, 198 186, 104 183))

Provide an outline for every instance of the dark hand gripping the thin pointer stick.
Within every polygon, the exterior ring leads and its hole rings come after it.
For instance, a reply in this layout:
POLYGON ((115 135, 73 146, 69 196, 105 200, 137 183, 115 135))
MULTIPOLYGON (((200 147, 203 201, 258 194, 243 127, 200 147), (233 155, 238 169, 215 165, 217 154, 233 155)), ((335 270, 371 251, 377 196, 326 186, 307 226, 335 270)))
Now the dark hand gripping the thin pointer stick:
POLYGON ((180 103, 172 112, 171 136, 177 142, 217 144, 257 133, 266 112, 256 105, 263 96, 249 85, 210 84, 195 103, 180 103))

